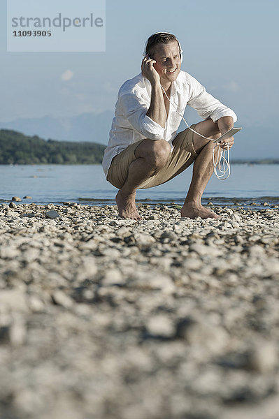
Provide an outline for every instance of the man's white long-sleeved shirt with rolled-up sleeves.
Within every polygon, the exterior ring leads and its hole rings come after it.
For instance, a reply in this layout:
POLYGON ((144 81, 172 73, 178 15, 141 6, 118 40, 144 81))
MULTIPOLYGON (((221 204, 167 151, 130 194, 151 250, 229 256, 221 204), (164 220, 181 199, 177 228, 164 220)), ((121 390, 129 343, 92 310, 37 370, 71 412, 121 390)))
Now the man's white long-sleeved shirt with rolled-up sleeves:
MULTIPOLYGON (((233 117, 236 114, 220 101, 211 96, 206 89, 192 75, 180 71, 175 82, 171 84, 171 102, 184 114, 186 105, 196 109, 203 119, 211 118, 216 122, 221 117, 233 117)), ((182 117, 173 105, 169 105, 169 115, 166 126, 154 122, 146 116, 151 101, 151 84, 140 73, 131 80, 127 80, 120 87, 115 105, 115 117, 110 129, 108 147, 103 156, 103 171, 106 176, 113 157, 122 152, 128 145, 143 138, 150 140, 164 139, 171 145, 176 137, 182 117)))

